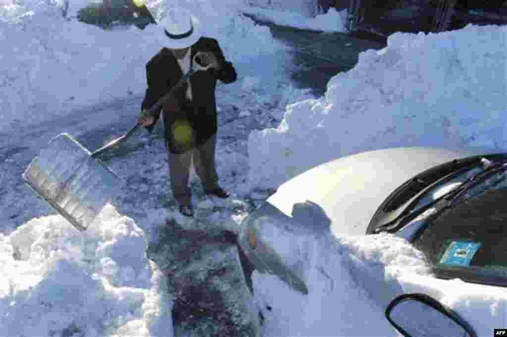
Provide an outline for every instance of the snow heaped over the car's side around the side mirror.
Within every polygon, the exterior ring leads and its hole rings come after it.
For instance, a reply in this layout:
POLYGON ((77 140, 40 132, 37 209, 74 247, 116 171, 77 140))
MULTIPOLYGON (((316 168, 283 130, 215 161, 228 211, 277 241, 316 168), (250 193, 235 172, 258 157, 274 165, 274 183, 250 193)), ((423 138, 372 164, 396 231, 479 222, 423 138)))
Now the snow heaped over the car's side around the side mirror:
MULTIPOLYGON (((382 233, 306 240, 308 295, 276 276, 253 272, 266 336, 394 337, 398 334, 385 319, 385 307, 397 295, 410 292, 427 293, 448 305, 479 336, 504 324, 504 288, 437 279, 421 252, 400 237, 382 233)), ((283 237, 279 241, 287 243, 283 237)))

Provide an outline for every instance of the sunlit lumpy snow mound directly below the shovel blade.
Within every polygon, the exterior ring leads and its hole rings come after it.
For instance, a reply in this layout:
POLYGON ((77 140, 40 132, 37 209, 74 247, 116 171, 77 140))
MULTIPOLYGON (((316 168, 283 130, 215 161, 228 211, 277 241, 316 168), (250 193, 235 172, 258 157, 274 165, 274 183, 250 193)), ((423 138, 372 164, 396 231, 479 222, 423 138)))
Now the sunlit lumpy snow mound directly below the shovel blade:
POLYGON ((147 245, 111 205, 83 233, 48 216, 0 234, 0 335, 172 335, 172 302, 147 245))

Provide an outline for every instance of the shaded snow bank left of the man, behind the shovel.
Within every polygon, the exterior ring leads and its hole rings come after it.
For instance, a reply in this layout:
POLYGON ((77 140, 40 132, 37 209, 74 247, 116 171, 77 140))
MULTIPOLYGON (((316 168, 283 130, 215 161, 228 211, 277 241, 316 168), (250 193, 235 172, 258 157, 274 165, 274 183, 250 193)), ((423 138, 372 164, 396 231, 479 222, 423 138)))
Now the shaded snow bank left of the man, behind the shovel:
POLYGON ((15 119, 36 123, 76 106, 142 92, 144 64, 160 47, 150 28, 104 34, 96 26, 42 14, 0 26, 0 34, 9 36, 9 48, 0 55, 0 130, 15 119), (140 43, 142 35, 146 40, 140 43))

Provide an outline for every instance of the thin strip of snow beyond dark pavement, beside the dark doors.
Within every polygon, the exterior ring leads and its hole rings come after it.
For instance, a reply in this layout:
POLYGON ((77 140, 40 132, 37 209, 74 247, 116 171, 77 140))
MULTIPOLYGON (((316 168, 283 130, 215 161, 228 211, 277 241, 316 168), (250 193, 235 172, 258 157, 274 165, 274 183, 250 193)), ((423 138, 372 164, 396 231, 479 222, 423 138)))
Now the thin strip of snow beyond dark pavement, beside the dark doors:
POLYGON ((296 12, 280 12, 273 9, 246 7, 241 10, 245 14, 254 16, 258 20, 273 22, 281 26, 297 27, 326 32, 345 32, 347 23, 347 10, 338 12, 330 8, 327 13, 315 17, 307 17, 296 12))

